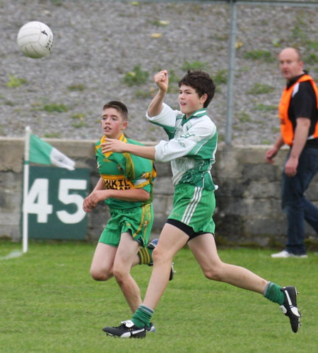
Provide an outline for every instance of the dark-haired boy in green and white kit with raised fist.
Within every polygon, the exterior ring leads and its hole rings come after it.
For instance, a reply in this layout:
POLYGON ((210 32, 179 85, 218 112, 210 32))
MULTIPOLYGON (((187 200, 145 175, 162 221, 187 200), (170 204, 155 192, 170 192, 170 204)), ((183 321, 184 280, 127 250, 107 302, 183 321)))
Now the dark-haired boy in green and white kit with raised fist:
POLYGON ((160 162, 171 161, 175 185, 173 209, 153 251, 153 273, 143 304, 131 320, 103 330, 107 335, 117 337, 146 336, 146 326, 167 286, 170 262, 175 253, 188 244, 208 279, 264 294, 267 299, 281 305, 283 313, 290 319, 293 332, 297 332, 300 313, 295 287, 279 287, 246 268, 223 263, 218 256, 212 219, 216 186, 210 172, 215 160, 217 132, 216 126, 206 115, 206 107, 215 91, 213 80, 203 71, 189 71, 179 81, 181 112, 163 103, 169 83, 167 71, 155 74, 154 80, 159 90, 146 116, 153 124, 165 128, 169 141, 162 140, 158 145, 148 147, 107 140, 102 144, 102 151, 116 150, 160 162))

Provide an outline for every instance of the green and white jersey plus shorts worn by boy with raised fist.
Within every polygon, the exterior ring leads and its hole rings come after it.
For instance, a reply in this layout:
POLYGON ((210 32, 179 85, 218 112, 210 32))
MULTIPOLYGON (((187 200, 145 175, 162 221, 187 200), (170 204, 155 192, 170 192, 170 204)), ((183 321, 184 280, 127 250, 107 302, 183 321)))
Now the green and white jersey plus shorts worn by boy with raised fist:
POLYGON ((211 167, 215 162, 218 133, 206 114, 206 108, 187 117, 163 103, 157 116, 147 119, 162 126, 170 140, 155 146, 155 159, 171 161, 174 204, 167 223, 175 221, 192 227, 194 232, 214 233, 212 219, 216 202, 211 167), (204 126, 204 129, 202 128, 204 126), (204 222, 203 222, 204 221, 204 222))

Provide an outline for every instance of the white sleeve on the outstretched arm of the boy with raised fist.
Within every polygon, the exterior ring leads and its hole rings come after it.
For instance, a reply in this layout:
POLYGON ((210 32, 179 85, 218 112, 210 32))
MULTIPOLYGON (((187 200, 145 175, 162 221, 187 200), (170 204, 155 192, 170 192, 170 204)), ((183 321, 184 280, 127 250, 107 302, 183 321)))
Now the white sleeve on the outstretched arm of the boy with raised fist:
POLYGON ((187 133, 169 141, 161 140, 155 145, 155 160, 169 162, 175 158, 194 156, 216 133, 216 126, 207 117, 205 124, 194 124, 187 133))

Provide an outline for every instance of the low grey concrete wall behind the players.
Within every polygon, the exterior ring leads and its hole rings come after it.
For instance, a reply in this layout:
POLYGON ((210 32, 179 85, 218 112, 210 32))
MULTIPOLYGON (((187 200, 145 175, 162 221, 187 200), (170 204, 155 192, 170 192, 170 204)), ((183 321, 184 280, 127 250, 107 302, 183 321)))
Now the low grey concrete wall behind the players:
MULTIPOLYGON (((45 139, 58 150, 76 160, 76 167, 88 167, 90 190, 98 173, 95 166, 94 141, 45 139)), ((268 146, 220 145, 213 165, 213 179, 218 184, 217 208, 214 215, 219 244, 257 244, 273 246, 285 241, 285 215, 281 211, 281 171, 287 150, 267 164, 264 153, 268 146)), ((23 185, 23 138, 0 138, 0 237, 18 241, 23 185)), ((173 187, 169 163, 156 163, 158 178, 154 186, 155 225, 159 233, 172 208, 173 187)), ((318 205, 318 177, 307 194, 318 205)), ((87 239, 98 239, 109 213, 100 204, 88 215, 87 239)), ((314 236, 307 227, 307 235, 314 236)), ((317 241, 317 238, 316 238, 317 241)))

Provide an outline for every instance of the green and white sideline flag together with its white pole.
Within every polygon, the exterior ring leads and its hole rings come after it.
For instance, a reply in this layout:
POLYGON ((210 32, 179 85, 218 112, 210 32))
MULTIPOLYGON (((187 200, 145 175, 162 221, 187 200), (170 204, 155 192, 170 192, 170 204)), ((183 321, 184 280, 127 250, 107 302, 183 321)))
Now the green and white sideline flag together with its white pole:
POLYGON ((23 253, 28 251, 28 187, 29 162, 54 164, 57 167, 74 170, 75 162, 49 143, 31 134, 29 126, 25 127, 25 148, 23 167, 23 253))

